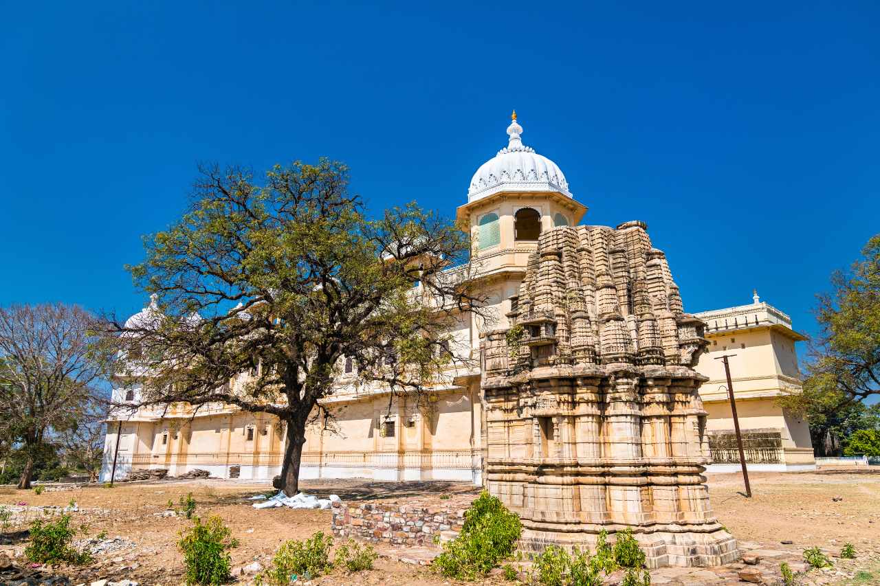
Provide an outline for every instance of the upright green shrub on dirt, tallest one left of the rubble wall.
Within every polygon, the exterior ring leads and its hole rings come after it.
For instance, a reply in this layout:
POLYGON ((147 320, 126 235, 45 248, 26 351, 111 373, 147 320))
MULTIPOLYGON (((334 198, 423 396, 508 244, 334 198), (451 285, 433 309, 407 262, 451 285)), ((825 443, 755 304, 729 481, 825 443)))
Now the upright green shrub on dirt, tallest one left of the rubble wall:
POLYGON ((187 586, 227 582, 231 560, 226 550, 238 546, 238 540, 219 516, 209 517, 204 524, 199 517, 194 521, 189 531, 180 532, 177 544, 187 565, 187 586))

